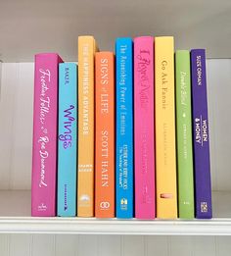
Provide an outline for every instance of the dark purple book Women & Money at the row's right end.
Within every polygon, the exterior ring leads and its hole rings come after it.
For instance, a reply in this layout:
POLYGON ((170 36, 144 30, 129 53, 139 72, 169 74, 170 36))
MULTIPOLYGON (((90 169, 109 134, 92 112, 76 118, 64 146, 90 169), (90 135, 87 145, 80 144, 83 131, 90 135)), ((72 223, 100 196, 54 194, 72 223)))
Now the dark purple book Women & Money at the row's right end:
POLYGON ((211 218, 206 51, 191 51, 196 218, 211 218))

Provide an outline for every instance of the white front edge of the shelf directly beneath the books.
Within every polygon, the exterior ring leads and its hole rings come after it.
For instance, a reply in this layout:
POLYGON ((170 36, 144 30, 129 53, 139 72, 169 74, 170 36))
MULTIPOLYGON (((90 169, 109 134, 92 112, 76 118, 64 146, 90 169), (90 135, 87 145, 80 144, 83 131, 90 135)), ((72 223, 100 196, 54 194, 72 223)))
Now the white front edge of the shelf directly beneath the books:
POLYGON ((231 235, 231 219, 193 221, 0 218, 0 233, 231 235))

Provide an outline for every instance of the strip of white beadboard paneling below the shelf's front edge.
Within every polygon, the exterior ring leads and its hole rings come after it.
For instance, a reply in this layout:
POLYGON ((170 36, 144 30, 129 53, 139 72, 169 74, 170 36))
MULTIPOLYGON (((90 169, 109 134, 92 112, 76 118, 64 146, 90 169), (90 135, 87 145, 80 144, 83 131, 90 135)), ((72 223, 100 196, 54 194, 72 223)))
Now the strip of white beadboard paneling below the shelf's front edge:
POLYGON ((230 256, 231 236, 0 235, 1 256, 230 256))

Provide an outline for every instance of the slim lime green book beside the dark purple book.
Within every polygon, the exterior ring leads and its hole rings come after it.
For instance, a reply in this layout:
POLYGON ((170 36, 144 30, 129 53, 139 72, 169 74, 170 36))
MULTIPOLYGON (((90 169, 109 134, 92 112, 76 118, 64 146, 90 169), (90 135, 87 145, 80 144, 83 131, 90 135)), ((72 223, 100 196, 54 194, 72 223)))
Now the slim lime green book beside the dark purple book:
POLYGON ((178 216, 194 219, 190 53, 175 53, 178 216))

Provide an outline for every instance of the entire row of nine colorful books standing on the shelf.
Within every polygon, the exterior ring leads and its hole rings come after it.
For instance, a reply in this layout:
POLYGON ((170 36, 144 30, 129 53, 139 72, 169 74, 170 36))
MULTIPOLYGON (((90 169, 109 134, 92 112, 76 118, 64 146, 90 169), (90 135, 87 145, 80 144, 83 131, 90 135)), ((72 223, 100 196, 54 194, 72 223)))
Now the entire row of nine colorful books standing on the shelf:
POLYGON ((32 216, 211 218, 206 53, 79 36, 35 55, 32 216))

